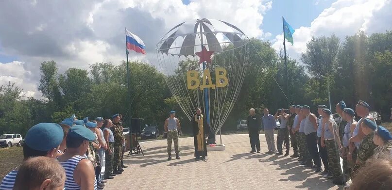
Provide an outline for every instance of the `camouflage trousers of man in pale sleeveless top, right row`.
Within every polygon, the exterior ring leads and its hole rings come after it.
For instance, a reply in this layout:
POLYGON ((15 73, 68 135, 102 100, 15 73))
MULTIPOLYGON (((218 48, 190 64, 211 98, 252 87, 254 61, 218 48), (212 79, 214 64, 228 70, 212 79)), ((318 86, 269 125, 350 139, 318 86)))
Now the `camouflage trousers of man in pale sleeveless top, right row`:
POLYGON ((341 177, 341 158, 335 146, 335 140, 326 140, 325 145, 328 154, 329 171, 333 174, 334 178, 341 177))

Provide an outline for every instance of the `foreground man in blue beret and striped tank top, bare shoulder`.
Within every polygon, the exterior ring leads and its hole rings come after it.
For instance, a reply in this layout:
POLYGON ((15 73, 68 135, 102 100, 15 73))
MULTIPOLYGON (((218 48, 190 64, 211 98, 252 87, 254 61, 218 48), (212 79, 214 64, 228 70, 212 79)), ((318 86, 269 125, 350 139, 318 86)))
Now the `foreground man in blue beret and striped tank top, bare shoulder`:
POLYGON ((94 166, 83 157, 92 141, 95 141, 95 135, 90 129, 79 125, 69 129, 67 151, 58 158, 67 171, 66 189, 97 190, 94 166))

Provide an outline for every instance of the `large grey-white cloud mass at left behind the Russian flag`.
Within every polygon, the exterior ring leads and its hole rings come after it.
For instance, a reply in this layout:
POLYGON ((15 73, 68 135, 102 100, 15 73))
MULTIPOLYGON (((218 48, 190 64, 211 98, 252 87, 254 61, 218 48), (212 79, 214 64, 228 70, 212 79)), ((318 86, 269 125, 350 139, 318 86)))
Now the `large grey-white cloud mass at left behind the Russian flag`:
POLYGON ((30 3, 0 1, 1 54, 20 62, 0 64, 0 82, 15 81, 26 95, 39 97, 39 66, 54 60, 59 72, 69 67, 125 60, 124 28, 146 44, 147 55, 130 52, 130 60, 157 65, 155 44, 175 25, 195 19, 214 18, 236 25, 249 37, 271 35, 259 28, 272 0, 83 0, 30 3), (27 14, 28 13, 28 14, 27 14))

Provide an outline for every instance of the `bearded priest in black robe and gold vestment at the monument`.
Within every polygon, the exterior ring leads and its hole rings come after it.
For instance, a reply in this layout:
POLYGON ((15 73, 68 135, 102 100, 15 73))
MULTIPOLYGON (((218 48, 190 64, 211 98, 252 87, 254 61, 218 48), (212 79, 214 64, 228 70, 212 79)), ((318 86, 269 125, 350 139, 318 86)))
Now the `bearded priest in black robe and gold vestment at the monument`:
POLYGON ((207 156, 205 135, 210 133, 210 126, 206 118, 202 115, 200 108, 196 110, 196 115, 192 118, 191 123, 193 127, 193 141, 195 143, 195 159, 198 160, 200 157, 205 159, 207 156))

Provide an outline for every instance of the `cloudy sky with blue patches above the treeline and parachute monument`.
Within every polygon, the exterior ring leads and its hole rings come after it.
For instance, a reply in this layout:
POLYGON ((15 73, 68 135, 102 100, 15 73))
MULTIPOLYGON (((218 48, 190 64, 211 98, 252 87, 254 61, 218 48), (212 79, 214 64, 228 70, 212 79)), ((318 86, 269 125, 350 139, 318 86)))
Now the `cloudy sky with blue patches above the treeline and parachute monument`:
POLYGON ((156 43, 177 24, 214 18, 237 26, 248 37, 283 48, 282 16, 295 29, 288 55, 299 60, 312 36, 392 30, 392 0, 1 0, 0 85, 9 81, 27 96, 37 90, 40 63, 69 67, 125 60, 125 27, 145 43, 146 55, 131 61, 158 65, 156 43))

